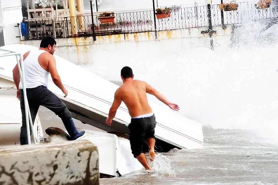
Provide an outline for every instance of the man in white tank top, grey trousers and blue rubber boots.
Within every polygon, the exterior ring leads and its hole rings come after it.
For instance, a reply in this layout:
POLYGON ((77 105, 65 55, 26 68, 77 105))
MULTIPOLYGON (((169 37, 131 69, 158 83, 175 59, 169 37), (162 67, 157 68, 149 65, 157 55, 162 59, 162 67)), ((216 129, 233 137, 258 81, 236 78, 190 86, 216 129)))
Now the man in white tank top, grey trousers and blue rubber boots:
MULTIPOLYGON (((55 85, 68 95, 67 89, 61 82, 61 78, 56 69, 56 60, 53 56, 56 41, 52 37, 44 37, 38 50, 28 51, 23 55, 23 65, 25 69, 26 94, 31 112, 32 122, 34 123, 40 105, 50 109, 63 121, 71 140, 79 140, 85 136, 85 131, 78 132, 75 128, 71 113, 66 105, 53 92, 49 91, 48 76, 55 85)), ((17 65, 13 69, 13 79, 17 88, 16 97, 20 100, 22 113, 22 126, 20 128, 20 144, 28 144, 27 127, 25 117, 25 106, 23 98, 22 83, 20 81, 17 65)), ((30 130, 31 133, 31 130, 30 130)))

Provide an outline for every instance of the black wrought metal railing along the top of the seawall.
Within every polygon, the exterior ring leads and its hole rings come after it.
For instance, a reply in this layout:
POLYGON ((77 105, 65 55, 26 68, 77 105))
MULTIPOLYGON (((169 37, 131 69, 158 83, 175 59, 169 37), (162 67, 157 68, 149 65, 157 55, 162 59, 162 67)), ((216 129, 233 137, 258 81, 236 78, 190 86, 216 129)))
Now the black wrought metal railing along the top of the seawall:
MULTIPOLYGON (((278 7, 271 5, 261 10, 256 8, 254 2, 238 3, 237 10, 223 11, 222 16, 218 5, 210 7, 212 26, 247 21, 273 21, 278 17, 278 7)), ((154 10, 114 15, 112 23, 101 23, 99 15, 93 15, 94 25, 91 15, 30 19, 25 22, 28 34, 23 39, 41 39, 47 35, 54 38, 69 38, 208 27, 208 6, 175 7, 171 9, 170 17, 163 19, 157 19, 154 10)))

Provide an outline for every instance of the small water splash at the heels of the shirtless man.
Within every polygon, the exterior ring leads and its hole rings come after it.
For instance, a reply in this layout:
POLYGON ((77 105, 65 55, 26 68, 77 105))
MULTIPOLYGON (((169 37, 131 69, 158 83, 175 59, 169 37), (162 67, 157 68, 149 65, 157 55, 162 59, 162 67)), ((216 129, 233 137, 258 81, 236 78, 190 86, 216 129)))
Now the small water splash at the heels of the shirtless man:
POLYGON ((171 161, 162 154, 156 154, 153 170, 166 177, 175 177, 175 170, 171 167, 171 161))

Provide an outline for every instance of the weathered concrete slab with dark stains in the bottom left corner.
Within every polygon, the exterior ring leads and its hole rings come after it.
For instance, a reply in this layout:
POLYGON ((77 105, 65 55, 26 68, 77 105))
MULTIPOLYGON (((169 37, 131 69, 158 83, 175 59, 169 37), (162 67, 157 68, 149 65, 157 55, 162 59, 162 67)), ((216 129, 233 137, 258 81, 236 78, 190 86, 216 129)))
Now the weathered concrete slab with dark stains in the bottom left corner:
POLYGON ((97 146, 81 140, 0 147, 0 184, 98 185, 97 146))

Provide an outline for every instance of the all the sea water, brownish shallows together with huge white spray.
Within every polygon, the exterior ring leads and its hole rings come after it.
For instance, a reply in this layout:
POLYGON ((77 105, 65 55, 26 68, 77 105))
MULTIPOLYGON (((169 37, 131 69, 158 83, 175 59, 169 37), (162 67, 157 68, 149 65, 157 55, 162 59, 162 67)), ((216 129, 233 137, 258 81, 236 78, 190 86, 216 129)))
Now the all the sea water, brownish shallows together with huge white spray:
MULTIPOLYGON (((121 84, 120 69, 148 82, 180 106, 179 114, 203 125, 204 147, 172 149, 137 171, 101 184, 278 184, 278 27, 258 34, 262 25, 235 30, 227 48, 169 51, 158 42, 121 45, 122 53, 94 53, 89 71, 121 84)), ((165 106, 155 97, 149 101, 165 106)))

